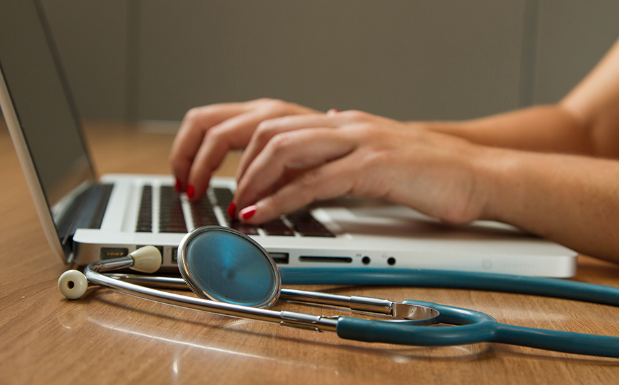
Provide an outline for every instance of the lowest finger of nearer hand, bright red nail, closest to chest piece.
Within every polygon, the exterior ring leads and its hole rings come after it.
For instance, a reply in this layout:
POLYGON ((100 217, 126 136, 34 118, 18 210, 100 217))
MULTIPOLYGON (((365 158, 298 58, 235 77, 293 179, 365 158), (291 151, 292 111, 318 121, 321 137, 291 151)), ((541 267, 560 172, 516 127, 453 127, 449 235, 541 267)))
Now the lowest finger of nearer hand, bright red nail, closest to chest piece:
POLYGON ((360 162, 355 156, 347 156, 307 170, 271 195, 241 210, 239 220, 252 224, 265 223, 313 201, 346 195, 354 189, 358 164, 360 162))

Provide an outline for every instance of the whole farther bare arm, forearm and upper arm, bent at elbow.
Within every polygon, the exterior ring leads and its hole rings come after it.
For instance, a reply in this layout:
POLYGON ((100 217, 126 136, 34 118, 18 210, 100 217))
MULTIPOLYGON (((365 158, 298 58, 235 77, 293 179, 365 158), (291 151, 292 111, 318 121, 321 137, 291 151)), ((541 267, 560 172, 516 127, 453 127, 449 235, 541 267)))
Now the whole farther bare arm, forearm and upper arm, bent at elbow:
POLYGON ((558 104, 427 126, 488 146, 619 157, 619 41, 558 104))

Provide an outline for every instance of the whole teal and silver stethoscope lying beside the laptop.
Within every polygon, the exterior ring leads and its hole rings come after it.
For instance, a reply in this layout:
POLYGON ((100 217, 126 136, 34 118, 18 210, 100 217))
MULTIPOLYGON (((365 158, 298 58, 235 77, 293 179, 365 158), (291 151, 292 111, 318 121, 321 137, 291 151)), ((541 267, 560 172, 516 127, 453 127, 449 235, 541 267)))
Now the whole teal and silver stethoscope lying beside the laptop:
POLYGON ((334 331, 340 338, 365 342, 415 346, 498 342, 565 353, 619 358, 618 337, 505 325, 479 311, 419 300, 396 303, 380 298, 282 289, 281 281, 288 284, 337 282, 352 285, 485 289, 617 306, 619 289, 616 287, 552 278, 438 270, 316 269, 310 273, 289 269, 281 275, 268 252, 256 241, 230 228, 215 226, 197 228, 182 239, 177 254, 182 278, 102 274, 124 268, 153 273, 159 269, 161 261, 159 250, 146 246, 135 250, 129 256, 91 263, 85 268, 84 274, 69 270, 58 280, 58 289, 66 298, 76 299, 85 294, 90 282, 159 303, 223 316, 272 322, 285 327, 334 331), (175 288, 188 286, 199 298, 163 292, 144 285, 175 288), (354 311, 382 314, 391 318, 369 320, 270 310, 279 298, 348 307, 354 311), (444 325, 453 326, 442 327, 444 325))

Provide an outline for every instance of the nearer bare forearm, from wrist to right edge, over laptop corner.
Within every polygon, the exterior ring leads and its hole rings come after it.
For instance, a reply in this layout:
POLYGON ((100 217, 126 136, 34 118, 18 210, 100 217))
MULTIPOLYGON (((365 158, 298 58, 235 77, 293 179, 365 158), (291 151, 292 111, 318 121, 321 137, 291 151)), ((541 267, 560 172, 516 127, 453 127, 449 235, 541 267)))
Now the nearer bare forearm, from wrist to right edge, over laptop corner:
POLYGON ((619 262, 619 162, 487 148, 483 217, 619 262))

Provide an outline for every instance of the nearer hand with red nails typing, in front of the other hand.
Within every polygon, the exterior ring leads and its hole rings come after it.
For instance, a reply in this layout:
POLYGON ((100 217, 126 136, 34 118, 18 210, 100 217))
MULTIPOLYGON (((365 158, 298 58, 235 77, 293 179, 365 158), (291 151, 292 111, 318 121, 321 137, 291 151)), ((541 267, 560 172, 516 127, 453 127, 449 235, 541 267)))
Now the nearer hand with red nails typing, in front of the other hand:
POLYGON ((481 217, 486 148, 359 111, 262 122, 237 174, 239 220, 261 223, 312 201, 384 197, 445 221, 481 217))

